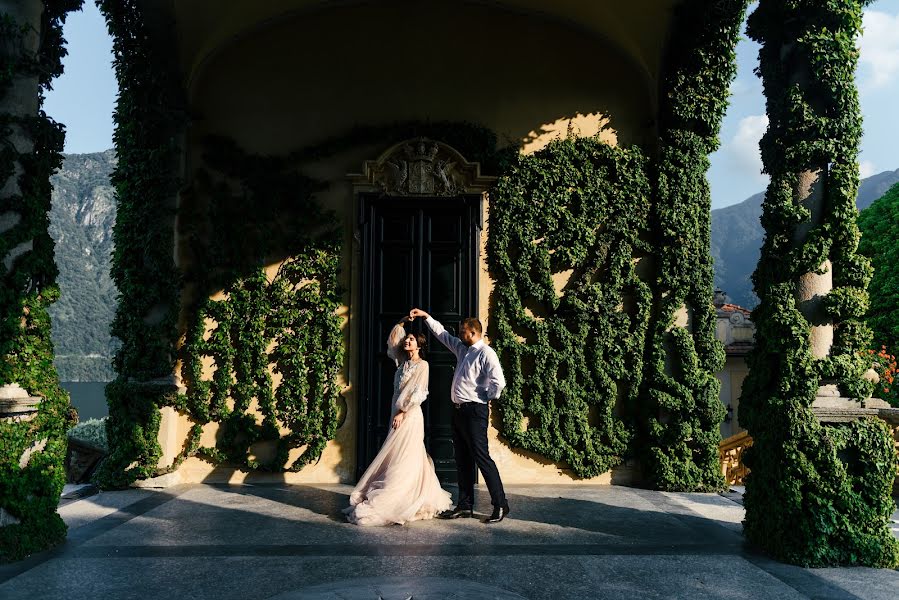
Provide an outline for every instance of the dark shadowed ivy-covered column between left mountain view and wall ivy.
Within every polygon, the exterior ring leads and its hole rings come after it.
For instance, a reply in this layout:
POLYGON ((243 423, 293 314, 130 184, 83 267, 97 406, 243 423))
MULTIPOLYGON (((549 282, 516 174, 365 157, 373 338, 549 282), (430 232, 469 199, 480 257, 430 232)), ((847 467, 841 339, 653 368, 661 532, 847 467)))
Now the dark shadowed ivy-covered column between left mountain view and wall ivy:
POLYGON ((110 455, 97 481, 119 487, 157 473, 160 408, 177 404, 174 379, 180 277, 174 221, 181 113, 171 69, 154 44, 139 0, 102 0, 113 38, 119 97, 113 141, 118 164, 112 277, 119 304, 112 333, 122 341, 106 388, 110 455))

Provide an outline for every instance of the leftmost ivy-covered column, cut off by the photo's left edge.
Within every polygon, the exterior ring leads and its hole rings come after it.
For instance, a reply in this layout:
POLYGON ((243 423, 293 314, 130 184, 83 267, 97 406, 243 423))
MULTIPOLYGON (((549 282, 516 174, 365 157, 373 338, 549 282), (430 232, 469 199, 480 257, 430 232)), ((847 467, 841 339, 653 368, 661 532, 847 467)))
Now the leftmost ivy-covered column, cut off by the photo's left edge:
POLYGON ((0 0, 0 560, 65 537, 68 395, 53 366, 47 307, 59 295, 48 232, 63 127, 41 110, 62 73, 62 23, 81 0, 0 0))

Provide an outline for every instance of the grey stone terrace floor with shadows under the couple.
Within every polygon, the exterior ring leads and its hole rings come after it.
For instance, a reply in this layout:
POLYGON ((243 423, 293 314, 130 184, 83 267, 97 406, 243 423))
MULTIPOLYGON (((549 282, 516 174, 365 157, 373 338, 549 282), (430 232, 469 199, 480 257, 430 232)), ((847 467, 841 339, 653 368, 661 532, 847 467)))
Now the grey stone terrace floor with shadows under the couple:
POLYGON ((739 494, 507 491, 512 513, 498 525, 359 528, 341 518, 349 486, 71 490, 68 540, 0 566, 0 598, 899 598, 897 571, 801 569, 751 552, 739 494))

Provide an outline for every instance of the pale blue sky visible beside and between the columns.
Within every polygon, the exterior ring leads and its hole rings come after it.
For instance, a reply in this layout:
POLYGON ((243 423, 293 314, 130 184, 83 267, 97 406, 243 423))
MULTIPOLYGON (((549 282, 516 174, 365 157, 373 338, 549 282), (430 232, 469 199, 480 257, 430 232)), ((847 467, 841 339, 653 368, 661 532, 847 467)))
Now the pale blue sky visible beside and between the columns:
MULTIPOLYGON (((750 11, 755 5, 750 7, 750 11)), ((899 118, 899 0, 878 0, 865 9, 856 74, 864 137, 859 166, 862 177, 899 169, 895 140, 899 118)), ((65 72, 53 82, 44 110, 66 125, 67 153, 100 152, 112 147, 112 111, 116 81, 112 70, 112 40, 93 0, 82 12, 69 14, 64 27, 69 55, 65 72)), ((758 141, 767 126, 761 81, 753 73, 758 45, 742 36, 737 46, 737 78, 721 128, 721 147, 711 156, 709 181, 712 208, 736 204, 761 192, 758 141)))

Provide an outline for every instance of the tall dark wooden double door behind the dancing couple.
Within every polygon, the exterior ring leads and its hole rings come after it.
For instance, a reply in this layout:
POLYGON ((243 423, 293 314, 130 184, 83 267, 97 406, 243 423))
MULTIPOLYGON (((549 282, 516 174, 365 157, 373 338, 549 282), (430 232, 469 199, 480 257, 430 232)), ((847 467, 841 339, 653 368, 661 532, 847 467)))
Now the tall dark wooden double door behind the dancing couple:
MULTIPOLYGON (((387 357, 391 328, 413 307, 458 335, 462 319, 477 313, 480 196, 409 198, 363 195, 360 419, 357 478, 371 463, 390 427, 393 376, 387 357)), ((422 404, 425 447, 442 482, 456 481, 450 384, 456 358, 421 319, 406 330, 428 337, 430 385, 422 404)))

